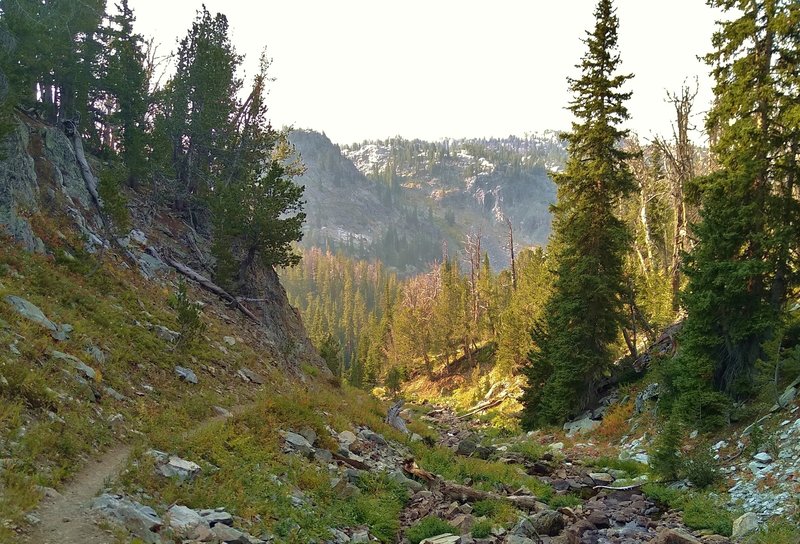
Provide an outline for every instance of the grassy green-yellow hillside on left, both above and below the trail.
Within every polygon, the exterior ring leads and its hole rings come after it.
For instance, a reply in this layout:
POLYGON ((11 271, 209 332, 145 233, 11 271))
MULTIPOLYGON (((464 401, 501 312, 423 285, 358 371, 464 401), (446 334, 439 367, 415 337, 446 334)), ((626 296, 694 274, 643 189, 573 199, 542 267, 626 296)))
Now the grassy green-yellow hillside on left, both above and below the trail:
MULTIPOLYGON (((81 254, 78 240, 56 237, 48 243, 55 253, 68 250, 75 258, 31 255, 0 244, 0 542, 15 541, 26 512, 41 499, 38 486, 61 487, 89 458, 118 442, 134 445, 119 489, 156 508, 173 502, 224 506, 252 534, 270 531, 285 542, 305 543, 326 537, 331 527, 354 525, 369 526, 384 541, 394 539, 405 489, 377 474, 362 479, 358 498, 338 500, 327 469, 282 453, 278 434, 311 427, 323 446, 333 447, 327 425, 337 431, 368 425, 405 441, 383 422, 385 404, 313 376, 305 383, 291 379, 269 360, 244 320, 201 291, 191 291, 191 297, 206 304, 207 329, 191 346, 176 347, 147 326, 179 329, 168 304, 174 285, 147 282, 112 263, 110 255, 101 261, 81 254), (36 304, 53 321, 71 324, 70 339, 56 342, 47 329, 16 314, 3 300, 11 294, 36 304), (224 336, 238 341, 227 345, 224 336), (104 362, 86 353, 90 346, 102 349, 104 362), (92 366, 96 381, 79 383, 52 350, 92 366), (178 364, 192 368, 199 384, 180 381, 173 370, 178 364), (235 374, 241 367, 261 373, 267 384, 259 389, 245 383, 235 374), (103 393, 106 386, 126 400, 107 394, 96 399, 94 391, 103 393), (213 420, 214 406, 241 408, 231 419, 213 420), (116 414, 122 423, 109 422, 116 414), (183 484, 155 477, 145 454, 149 448, 192 459, 204 471, 183 484), (302 507, 292 502, 298 492, 302 507)), ((419 423, 411 428, 430 435, 419 423)), ((550 492, 507 465, 457 458, 422 443, 408 446, 421 466, 456 481, 550 492)))

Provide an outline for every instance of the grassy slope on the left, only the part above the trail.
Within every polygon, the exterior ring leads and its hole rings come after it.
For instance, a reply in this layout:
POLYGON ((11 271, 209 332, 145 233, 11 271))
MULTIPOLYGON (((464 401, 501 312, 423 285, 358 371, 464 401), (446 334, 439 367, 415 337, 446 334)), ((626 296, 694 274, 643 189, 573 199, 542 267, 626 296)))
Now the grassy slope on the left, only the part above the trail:
POLYGON ((53 238, 48 243, 56 254, 68 250, 74 257, 30 255, 0 242, 0 541, 11 538, 9 526, 38 502, 37 485, 58 487, 87 456, 116 441, 147 440, 165 427, 187 428, 212 415, 214 405, 251 402, 256 391, 235 377, 240 367, 270 382, 281 378, 244 323, 216 301, 206 300, 204 337, 177 348, 147 326, 179 329, 168 305, 172 287, 81 254, 78 240, 53 238), (71 324, 70 339, 53 340, 47 329, 19 316, 6 295, 24 297, 51 320, 71 324), (247 341, 226 346, 226 335, 247 341), (103 351, 104 362, 86 353, 90 346, 103 351), (53 350, 92 366, 95 382, 79 383, 53 350), (175 365, 192 368, 200 383, 180 381, 175 365), (106 386, 127 399, 114 400, 106 386), (109 423, 115 414, 121 424, 109 423))

